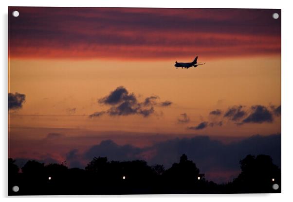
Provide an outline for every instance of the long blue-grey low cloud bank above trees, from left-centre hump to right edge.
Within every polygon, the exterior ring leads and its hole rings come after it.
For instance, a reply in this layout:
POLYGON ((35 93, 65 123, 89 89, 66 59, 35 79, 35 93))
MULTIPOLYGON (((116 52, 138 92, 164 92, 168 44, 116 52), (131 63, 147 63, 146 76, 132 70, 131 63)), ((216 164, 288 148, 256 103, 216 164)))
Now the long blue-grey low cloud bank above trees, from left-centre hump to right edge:
MULTIPOLYGON (((192 138, 175 138, 155 143, 150 147, 137 148, 131 145, 117 145, 111 140, 102 141, 92 146, 84 153, 84 158, 107 156, 109 160, 145 159, 149 165, 163 164, 170 168, 185 153, 188 159, 194 161, 202 173, 239 171, 239 160, 246 155, 270 155, 277 166, 281 166, 281 135, 254 135, 243 140, 224 144, 212 140, 208 136, 192 138), (152 155, 145 157, 146 153, 152 155)), ((208 178, 216 182, 227 182, 227 178, 208 178)))

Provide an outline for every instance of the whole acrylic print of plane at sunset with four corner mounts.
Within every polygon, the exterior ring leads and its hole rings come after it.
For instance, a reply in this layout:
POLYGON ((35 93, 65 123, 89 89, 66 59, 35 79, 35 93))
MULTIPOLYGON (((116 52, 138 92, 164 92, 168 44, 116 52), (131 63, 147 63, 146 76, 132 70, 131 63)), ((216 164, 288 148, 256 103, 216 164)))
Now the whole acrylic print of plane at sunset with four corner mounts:
POLYGON ((9 195, 281 192, 280 9, 8 16, 9 195))

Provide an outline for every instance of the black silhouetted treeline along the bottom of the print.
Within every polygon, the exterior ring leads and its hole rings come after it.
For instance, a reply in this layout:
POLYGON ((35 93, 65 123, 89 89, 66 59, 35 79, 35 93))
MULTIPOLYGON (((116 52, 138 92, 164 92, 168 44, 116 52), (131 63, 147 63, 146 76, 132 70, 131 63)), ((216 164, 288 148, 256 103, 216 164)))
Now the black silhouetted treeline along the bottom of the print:
POLYGON ((209 182, 195 163, 183 154, 179 163, 165 169, 146 161, 108 161, 93 158, 85 169, 63 164, 44 165, 28 161, 21 172, 8 159, 8 195, 90 195, 90 194, 198 194, 198 193, 280 193, 281 170, 267 155, 247 155, 240 162, 241 173, 233 182, 209 182), (274 190, 273 184, 279 188, 274 190), (12 187, 17 185, 18 192, 12 187))

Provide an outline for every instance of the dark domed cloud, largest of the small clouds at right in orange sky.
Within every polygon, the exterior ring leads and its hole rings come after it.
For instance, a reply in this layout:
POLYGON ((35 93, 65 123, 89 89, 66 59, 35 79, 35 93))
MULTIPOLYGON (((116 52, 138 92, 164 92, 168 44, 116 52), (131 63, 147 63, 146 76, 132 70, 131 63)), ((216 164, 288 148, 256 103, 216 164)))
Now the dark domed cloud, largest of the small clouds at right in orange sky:
POLYGON ((251 112, 247 118, 242 120, 242 123, 263 123, 273 122, 273 114, 265 106, 254 105, 251 107, 251 112))

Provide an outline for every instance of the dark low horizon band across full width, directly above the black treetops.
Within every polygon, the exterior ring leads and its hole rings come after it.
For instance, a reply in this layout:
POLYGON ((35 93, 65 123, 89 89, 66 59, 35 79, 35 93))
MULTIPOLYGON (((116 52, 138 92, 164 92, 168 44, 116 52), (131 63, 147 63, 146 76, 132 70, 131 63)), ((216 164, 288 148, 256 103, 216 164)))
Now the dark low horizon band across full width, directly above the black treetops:
POLYGON ((120 145, 110 139, 106 139, 99 144, 93 145, 85 152, 81 152, 78 149, 69 151, 65 161, 62 162, 50 157, 46 159, 15 157, 14 160, 16 160, 16 164, 20 168, 27 161, 36 160, 45 164, 62 163, 68 168, 84 169, 87 165, 86 161, 91 160, 93 157, 107 156, 110 161, 144 160, 147 161, 149 166, 160 163, 165 168, 170 168, 172 162, 175 162, 176 158, 182 153, 186 153, 192 161, 197 163, 198 167, 206 173, 207 180, 215 183, 228 183, 240 173, 238 159, 244 158, 247 153, 270 155, 273 163, 281 168, 281 135, 252 135, 240 140, 230 140, 228 143, 211 139, 209 136, 196 135, 181 139, 169 139, 144 148, 130 144, 120 145), (207 150, 207 148, 209 149, 207 150), (169 153, 165 154, 164 151, 169 151, 169 153), (151 156, 153 152, 158 154, 151 156), (164 160, 162 161, 162 159, 164 160))

